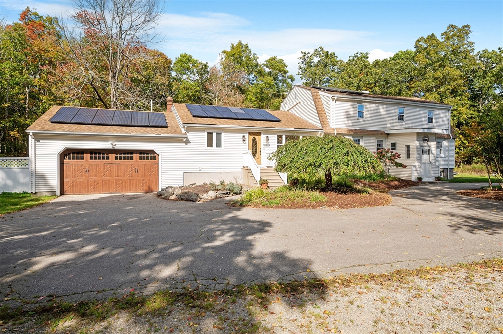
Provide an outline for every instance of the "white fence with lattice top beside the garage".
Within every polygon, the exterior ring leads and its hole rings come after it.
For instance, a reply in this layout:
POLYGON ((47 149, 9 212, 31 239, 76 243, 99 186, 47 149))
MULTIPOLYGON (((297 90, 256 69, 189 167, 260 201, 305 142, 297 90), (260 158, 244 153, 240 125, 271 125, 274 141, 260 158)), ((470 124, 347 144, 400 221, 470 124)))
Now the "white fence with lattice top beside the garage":
POLYGON ((30 158, 0 158, 0 193, 30 192, 30 158))

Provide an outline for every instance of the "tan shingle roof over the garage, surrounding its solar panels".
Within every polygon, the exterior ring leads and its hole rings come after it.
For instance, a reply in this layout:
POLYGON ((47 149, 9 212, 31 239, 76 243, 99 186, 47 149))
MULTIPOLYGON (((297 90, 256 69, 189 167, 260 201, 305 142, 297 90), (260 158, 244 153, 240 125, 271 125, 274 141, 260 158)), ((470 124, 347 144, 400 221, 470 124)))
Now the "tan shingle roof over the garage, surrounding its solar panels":
POLYGON ((91 125, 91 124, 71 124, 71 123, 51 123, 49 119, 56 114, 61 105, 51 107, 40 116, 28 129, 30 131, 50 131, 50 132, 75 132, 75 133, 97 133, 97 134, 124 134, 124 135, 183 135, 175 115, 173 113, 163 113, 166 118, 167 128, 158 127, 123 127, 115 125, 91 125))

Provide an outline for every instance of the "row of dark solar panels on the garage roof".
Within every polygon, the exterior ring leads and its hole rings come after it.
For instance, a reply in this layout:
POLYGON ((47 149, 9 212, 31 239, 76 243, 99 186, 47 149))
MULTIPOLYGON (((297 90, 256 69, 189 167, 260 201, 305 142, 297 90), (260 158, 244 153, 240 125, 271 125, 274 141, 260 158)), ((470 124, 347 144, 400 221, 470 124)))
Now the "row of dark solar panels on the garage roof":
POLYGON ((93 109, 63 106, 49 120, 53 123, 121 125, 132 127, 167 127, 162 113, 129 110, 93 109))

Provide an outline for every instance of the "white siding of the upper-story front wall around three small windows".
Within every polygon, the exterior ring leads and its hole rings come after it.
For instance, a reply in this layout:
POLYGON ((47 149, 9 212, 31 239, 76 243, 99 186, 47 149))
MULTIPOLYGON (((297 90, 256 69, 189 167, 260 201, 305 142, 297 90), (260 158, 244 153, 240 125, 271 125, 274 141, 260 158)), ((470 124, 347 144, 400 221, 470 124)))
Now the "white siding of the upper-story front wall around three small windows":
POLYGON ((343 129, 399 130, 399 129, 441 129, 449 130, 449 110, 431 107, 407 106, 390 102, 366 102, 365 118, 357 117, 356 100, 338 97, 332 101, 334 126, 343 129), (398 107, 405 108, 405 120, 398 121, 398 107), (434 111, 434 123, 428 123, 428 110, 434 111))

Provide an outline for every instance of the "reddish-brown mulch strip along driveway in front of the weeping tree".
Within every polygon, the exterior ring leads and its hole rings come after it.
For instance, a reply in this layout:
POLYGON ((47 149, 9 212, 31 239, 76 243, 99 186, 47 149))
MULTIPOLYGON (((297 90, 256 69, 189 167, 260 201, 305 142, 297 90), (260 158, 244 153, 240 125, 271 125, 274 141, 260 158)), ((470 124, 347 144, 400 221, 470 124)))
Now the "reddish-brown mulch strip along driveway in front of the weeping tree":
POLYGON ((372 194, 341 194, 333 191, 320 192, 326 197, 324 202, 311 202, 309 199, 303 201, 292 201, 280 205, 254 205, 248 204, 247 207, 255 208, 274 208, 274 209, 354 209, 360 207, 382 206, 391 202, 391 196, 381 192, 372 194))

